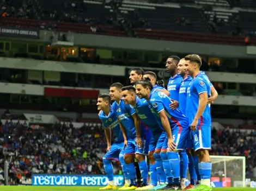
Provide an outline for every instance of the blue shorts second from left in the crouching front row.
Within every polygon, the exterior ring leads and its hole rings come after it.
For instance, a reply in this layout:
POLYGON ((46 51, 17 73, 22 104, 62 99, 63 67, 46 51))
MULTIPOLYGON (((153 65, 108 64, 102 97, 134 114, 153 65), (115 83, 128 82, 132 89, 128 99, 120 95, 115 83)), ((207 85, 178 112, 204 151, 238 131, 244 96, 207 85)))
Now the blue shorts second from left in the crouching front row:
POLYGON ((137 144, 135 142, 136 138, 128 139, 127 140, 128 147, 124 148, 124 154, 125 155, 134 155, 134 154, 148 155, 150 139, 151 139, 151 135, 142 137, 143 147, 137 147, 137 144))

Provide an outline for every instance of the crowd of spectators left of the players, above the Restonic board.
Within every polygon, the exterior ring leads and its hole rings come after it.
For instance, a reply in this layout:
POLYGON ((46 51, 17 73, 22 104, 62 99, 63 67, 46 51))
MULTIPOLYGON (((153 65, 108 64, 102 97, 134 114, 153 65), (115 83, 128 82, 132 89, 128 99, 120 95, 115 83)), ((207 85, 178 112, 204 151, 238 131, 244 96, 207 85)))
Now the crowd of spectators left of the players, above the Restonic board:
MULTIPOLYGON (((0 124, 0 168, 9 161, 10 183, 31 183, 32 174, 104 174, 106 141, 96 124, 0 124), (100 134, 101 133, 101 134, 100 134), (93 144, 92 144, 93 143, 93 144)), ((114 172, 121 174, 119 163, 114 172)), ((0 174, 3 175, 3 170, 0 174)), ((1 179, 1 176, 0 176, 1 179)))

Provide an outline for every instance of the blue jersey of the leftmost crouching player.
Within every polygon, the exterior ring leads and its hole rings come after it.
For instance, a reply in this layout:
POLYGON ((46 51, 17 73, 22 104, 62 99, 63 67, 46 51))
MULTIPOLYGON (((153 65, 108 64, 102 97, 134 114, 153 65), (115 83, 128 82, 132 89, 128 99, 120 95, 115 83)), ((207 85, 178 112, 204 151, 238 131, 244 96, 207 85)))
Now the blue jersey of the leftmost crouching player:
POLYGON ((113 107, 110 107, 110 112, 108 116, 103 111, 100 111, 99 118, 102 122, 103 127, 110 128, 113 130, 114 136, 116 137, 115 143, 124 142, 123 133, 120 130, 119 122, 117 119, 117 115, 113 112, 113 107))

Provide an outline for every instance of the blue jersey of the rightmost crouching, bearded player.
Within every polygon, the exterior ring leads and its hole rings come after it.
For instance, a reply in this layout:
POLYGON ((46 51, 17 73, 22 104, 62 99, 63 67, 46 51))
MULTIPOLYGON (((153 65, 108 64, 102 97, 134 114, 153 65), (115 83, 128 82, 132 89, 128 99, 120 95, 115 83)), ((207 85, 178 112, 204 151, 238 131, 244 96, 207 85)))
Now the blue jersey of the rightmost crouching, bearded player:
POLYGON ((182 114, 178 109, 170 109, 169 104, 171 103, 173 103, 172 100, 170 100, 166 94, 156 90, 152 90, 150 92, 149 104, 156 113, 159 113, 163 110, 166 112, 166 116, 168 117, 170 127, 172 129, 180 128, 180 126, 182 126, 182 128, 188 127, 186 116, 182 114))

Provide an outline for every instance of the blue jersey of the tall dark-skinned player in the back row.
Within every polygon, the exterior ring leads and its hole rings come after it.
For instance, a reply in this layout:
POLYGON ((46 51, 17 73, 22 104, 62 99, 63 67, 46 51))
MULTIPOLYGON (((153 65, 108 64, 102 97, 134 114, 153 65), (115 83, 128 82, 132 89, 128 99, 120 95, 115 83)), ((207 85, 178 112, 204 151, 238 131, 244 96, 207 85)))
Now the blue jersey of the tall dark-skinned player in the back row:
POLYGON ((170 99, 179 101, 179 90, 182 80, 183 78, 179 74, 176 74, 174 75, 174 77, 169 78, 167 90, 168 92, 170 92, 170 99))

